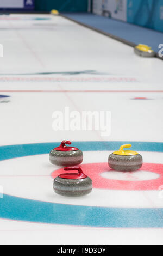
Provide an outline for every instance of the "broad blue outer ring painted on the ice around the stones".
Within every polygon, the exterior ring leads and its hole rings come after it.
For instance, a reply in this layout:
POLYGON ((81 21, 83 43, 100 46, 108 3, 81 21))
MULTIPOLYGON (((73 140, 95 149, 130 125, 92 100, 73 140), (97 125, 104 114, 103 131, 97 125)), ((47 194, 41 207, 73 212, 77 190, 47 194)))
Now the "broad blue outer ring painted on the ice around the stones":
MULTIPOLYGON (((124 141, 75 142, 83 151, 115 150, 124 141)), ((163 152, 163 143, 130 142, 136 151, 163 152)), ((35 143, 0 147, 0 161, 16 157, 48 154, 54 143, 35 143)), ((108 199, 109 200, 109 199, 108 199)), ((3 195, 0 218, 17 221, 114 228, 162 228, 163 208, 108 208, 41 202, 3 195)))

